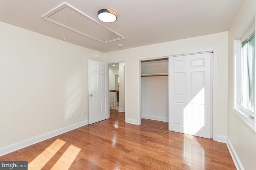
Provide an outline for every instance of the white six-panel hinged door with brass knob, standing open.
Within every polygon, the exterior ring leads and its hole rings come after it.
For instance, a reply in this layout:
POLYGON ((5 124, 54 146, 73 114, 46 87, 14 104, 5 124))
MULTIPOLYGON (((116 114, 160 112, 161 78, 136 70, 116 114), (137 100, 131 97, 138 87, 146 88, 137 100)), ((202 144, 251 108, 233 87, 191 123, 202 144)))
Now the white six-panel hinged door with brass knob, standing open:
POLYGON ((89 124, 109 118, 108 63, 88 61, 89 124))

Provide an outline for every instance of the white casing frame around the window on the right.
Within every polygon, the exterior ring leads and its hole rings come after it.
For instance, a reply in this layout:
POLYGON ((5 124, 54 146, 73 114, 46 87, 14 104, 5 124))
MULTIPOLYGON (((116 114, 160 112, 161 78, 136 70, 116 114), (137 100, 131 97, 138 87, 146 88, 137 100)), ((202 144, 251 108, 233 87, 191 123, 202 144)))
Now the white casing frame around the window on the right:
MULTIPOLYGON (((256 132, 256 114, 252 117, 251 113, 246 111, 241 105, 241 49, 242 42, 254 32, 255 29, 255 14, 248 20, 244 29, 239 36, 233 40, 233 112, 254 132, 256 132)), ((255 37, 255 35, 254 35, 255 37)), ((255 63, 254 63, 255 64, 255 63)), ((256 80, 256 74, 254 74, 256 80)), ((256 88, 255 88, 256 89, 256 88)), ((256 102, 256 94, 254 92, 254 103, 256 102)), ((256 104, 254 104, 256 106, 256 104)), ((256 113, 256 107, 254 107, 256 113)))

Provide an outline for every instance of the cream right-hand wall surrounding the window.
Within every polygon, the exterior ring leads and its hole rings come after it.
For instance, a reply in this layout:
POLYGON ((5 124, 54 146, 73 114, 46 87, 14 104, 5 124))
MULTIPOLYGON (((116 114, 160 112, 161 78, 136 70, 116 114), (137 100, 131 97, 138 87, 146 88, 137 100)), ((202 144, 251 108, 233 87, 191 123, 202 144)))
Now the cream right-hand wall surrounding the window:
POLYGON ((244 0, 242 6, 238 10, 236 18, 230 27, 228 34, 229 54, 228 54, 228 139, 230 145, 234 149, 233 152, 237 155, 236 159, 240 167, 245 170, 256 169, 256 132, 254 132, 248 125, 246 125, 236 114, 232 111, 233 102, 233 38, 244 28, 246 20, 255 15, 256 1, 244 0), (236 145, 235 137, 238 138, 236 145))

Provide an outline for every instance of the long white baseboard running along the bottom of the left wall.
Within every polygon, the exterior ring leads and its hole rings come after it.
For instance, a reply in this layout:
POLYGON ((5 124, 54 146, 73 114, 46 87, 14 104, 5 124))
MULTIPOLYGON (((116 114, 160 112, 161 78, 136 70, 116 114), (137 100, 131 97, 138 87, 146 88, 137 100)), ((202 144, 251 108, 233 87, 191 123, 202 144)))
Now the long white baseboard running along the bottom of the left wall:
POLYGON ((63 134, 65 132, 68 132, 70 130, 74 130, 76 128, 79 128, 79 127, 82 127, 82 126, 85 126, 85 125, 88 125, 88 124, 89 124, 88 120, 87 121, 82 121, 82 122, 79 122, 79 123, 76 123, 76 124, 73 124, 73 125, 70 125, 70 126, 67 126, 67 127, 64 127, 64 128, 60 128, 60 129, 57 129, 57 130, 54 130, 54 131, 51 131, 51 132, 33 137, 33 138, 30 138, 30 139, 27 139, 27 140, 23 140, 21 142, 17 142, 15 144, 11 144, 9 146, 0 148, 0 156, 3 156, 5 154, 14 152, 14 151, 22 149, 22 148, 25 148, 25 147, 30 146, 32 144, 42 142, 43 140, 52 138, 54 136, 58 136, 60 134, 63 134))

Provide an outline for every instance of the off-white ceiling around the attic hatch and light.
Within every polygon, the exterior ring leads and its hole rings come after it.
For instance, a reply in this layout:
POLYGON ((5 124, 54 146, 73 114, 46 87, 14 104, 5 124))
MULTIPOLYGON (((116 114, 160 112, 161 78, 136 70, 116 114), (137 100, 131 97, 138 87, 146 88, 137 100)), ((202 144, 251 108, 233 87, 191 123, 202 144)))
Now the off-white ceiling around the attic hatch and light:
POLYGON ((0 21, 105 53, 228 31, 242 1, 0 0, 0 21), (124 39, 98 42, 42 18, 64 2, 124 39), (103 8, 115 10, 118 20, 99 21, 97 13, 103 8))

